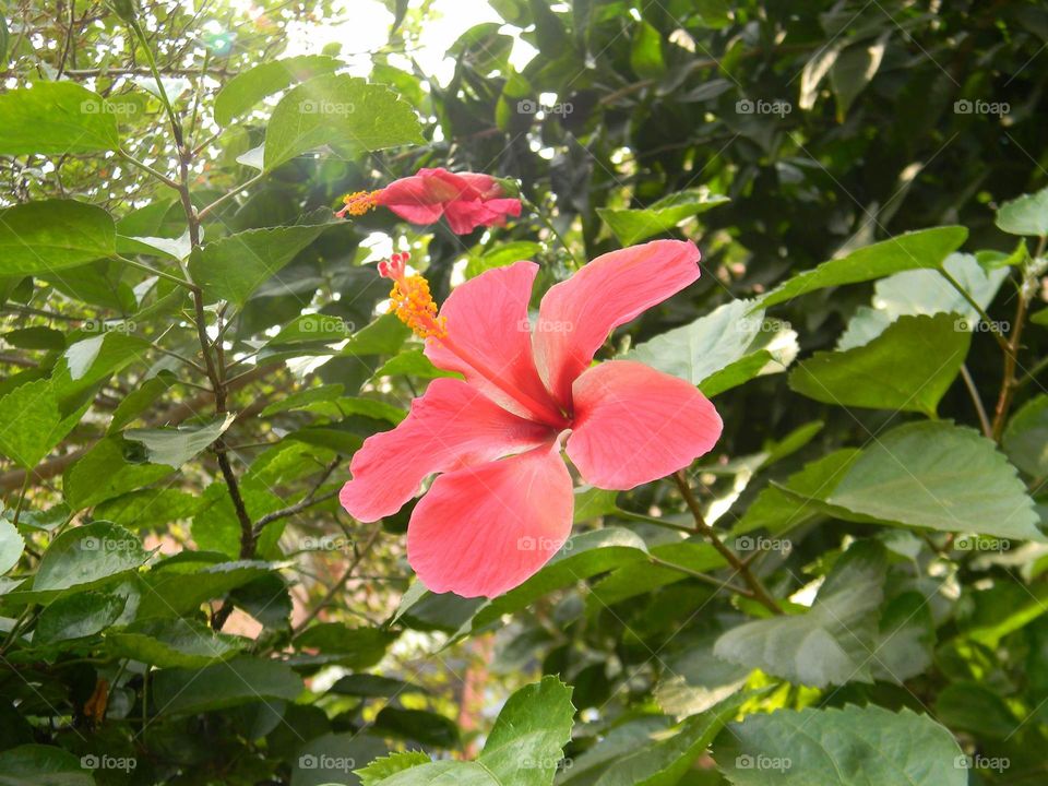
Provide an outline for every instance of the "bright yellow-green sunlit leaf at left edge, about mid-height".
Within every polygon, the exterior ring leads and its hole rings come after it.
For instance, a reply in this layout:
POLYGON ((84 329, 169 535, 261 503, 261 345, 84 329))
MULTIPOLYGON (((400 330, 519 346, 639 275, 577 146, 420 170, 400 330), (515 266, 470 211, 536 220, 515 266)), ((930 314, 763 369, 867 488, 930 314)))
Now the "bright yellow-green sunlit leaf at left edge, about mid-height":
POLYGON ((0 397, 0 453, 32 469, 72 431, 83 414, 62 416, 49 379, 19 385, 0 397))

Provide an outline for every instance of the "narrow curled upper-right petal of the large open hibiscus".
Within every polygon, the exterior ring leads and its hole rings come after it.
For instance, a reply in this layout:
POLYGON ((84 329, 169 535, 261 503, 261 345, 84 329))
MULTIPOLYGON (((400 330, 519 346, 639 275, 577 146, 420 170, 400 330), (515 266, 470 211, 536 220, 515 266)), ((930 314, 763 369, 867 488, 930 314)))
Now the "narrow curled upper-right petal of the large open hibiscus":
POLYGON ((549 288, 535 329, 535 361, 553 396, 571 401, 571 383, 608 334, 699 278, 691 241, 653 240, 593 260, 549 288))

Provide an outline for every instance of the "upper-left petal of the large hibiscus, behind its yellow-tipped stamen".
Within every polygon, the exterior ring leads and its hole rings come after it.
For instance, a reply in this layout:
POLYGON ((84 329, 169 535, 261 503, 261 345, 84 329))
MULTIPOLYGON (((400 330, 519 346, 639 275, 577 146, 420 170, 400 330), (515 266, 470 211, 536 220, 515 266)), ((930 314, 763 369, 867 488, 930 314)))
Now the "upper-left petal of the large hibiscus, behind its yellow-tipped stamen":
POLYGON ((456 287, 440 309, 448 336, 427 340, 426 356, 514 413, 564 425, 532 356, 527 301, 537 272, 534 262, 514 262, 456 287))

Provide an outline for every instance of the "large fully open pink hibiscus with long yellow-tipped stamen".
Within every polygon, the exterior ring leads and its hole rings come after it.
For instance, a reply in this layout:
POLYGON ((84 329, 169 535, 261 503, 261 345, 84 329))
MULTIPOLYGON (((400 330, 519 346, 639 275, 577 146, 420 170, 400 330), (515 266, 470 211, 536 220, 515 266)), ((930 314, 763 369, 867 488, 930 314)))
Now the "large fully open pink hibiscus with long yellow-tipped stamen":
POLYGON ((546 293, 516 262, 454 289, 440 313, 406 257, 382 263, 392 306, 426 356, 465 379, 437 379, 391 431, 353 457, 343 507, 360 521, 412 513, 407 558, 433 592, 493 597, 541 568, 571 532, 561 450, 587 483, 631 489, 688 466, 720 436, 694 385, 631 360, 591 366, 608 334, 699 278, 694 243, 656 240, 597 258, 546 293))

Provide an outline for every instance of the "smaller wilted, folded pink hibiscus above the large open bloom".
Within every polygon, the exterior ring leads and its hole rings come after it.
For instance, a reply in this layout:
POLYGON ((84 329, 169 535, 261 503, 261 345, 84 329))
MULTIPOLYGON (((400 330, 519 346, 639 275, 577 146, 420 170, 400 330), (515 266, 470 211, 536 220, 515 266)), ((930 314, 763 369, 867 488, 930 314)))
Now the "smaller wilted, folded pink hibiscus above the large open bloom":
POLYGON ((364 215, 378 206, 389 207, 412 224, 436 224, 446 216, 456 235, 478 226, 502 226, 507 216, 521 214, 521 201, 511 198, 490 175, 419 169, 412 177, 394 180, 378 191, 357 191, 343 198, 337 215, 364 215))

